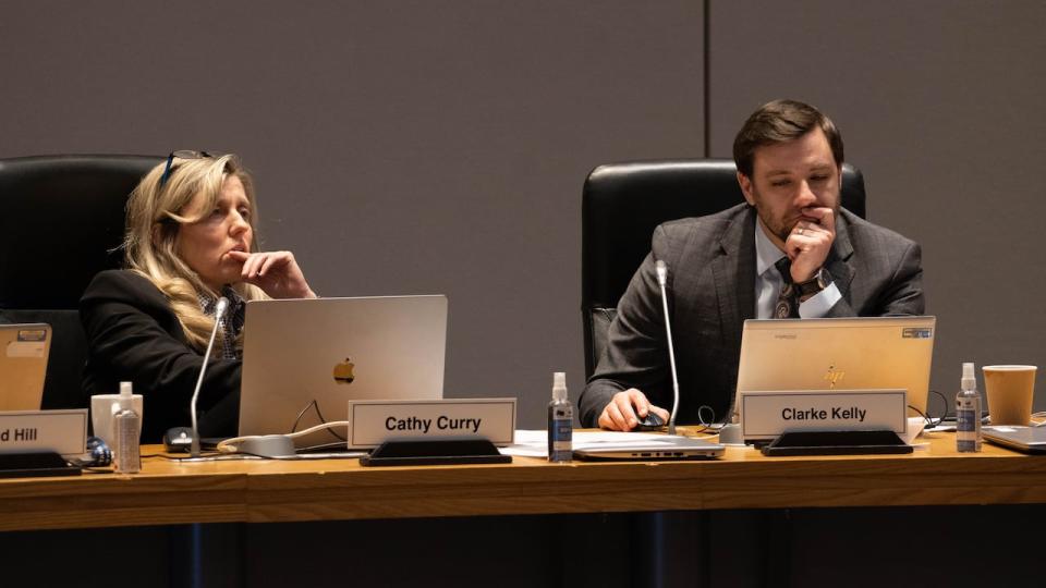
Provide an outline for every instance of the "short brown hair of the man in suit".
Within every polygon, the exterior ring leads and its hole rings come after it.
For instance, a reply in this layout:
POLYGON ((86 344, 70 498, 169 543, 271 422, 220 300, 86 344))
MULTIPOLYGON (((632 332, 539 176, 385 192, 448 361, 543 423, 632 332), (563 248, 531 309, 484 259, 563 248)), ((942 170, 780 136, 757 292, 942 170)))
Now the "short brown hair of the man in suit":
POLYGON ((815 127, 824 131, 836 166, 842 166, 842 135, 835 123, 816 108, 798 100, 774 100, 753 112, 733 139, 733 162, 739 172, 752 177, 757 148, 795 140, 815 127))

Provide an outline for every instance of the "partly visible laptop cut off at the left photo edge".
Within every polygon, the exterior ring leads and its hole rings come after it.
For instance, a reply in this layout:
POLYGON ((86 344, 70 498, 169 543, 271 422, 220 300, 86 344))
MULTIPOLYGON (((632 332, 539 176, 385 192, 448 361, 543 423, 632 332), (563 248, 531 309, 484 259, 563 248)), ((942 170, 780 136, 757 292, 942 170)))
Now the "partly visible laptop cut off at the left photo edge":
POLYGON ((50 324, 0 324, 0 411, 39 411, 50 324))

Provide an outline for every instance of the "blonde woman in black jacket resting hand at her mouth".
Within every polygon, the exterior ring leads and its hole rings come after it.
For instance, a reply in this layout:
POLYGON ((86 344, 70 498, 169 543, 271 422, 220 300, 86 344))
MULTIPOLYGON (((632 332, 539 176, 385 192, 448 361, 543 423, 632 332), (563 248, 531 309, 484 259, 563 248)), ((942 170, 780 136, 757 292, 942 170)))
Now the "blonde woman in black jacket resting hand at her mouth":
POLYGON ((190 424, 216 302, 230 301, 197 402, 205 437, 234 434, 244 302, 316 297, 290 252, 259 252, 251 175, 235 156, 175 151, 127 201, 127 269, 95 277, 80 304, 87 335, 84 389, 134 382, 145 400, 143 440, 190 424))

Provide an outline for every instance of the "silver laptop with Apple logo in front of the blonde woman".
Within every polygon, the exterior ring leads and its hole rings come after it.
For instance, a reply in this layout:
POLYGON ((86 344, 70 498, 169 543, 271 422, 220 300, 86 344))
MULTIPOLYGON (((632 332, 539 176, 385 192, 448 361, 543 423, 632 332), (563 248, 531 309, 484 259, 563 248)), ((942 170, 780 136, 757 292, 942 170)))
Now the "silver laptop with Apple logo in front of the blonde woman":
MULTIPOLYGON (((441 399, 446 344, 446 296, 248 302, 240 434, 345 420, 350 400, 441 399)), ((326 431, 295 440, 335 442, 326 431)))

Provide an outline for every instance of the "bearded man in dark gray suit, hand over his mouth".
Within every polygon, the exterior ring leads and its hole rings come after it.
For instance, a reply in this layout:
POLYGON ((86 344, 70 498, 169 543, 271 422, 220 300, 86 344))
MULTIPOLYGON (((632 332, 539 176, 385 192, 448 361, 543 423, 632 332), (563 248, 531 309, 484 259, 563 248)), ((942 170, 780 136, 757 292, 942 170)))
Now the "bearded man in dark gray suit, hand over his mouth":
POLYGON ((658 260, 680 424, 727 418, 745 319, 923 314, 919 245, 839 206, 842 151, 836 126, 810 105, 776 100, 749 118, 733 143, 746 204, 655 230, 582 392, 584 426, 627 431, 652 412, 668 421, 658 260))

